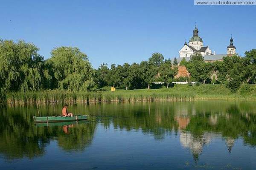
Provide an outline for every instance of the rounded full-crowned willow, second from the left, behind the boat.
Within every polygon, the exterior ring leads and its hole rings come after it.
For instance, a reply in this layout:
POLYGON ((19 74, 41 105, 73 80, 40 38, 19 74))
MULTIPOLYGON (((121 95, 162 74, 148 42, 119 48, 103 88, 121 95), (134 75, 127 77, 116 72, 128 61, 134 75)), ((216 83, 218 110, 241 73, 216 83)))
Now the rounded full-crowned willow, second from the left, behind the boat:
POLYGON ((94 84, 93 67, 79 48, 54 48, 47 63, 51 65, 55 84, 60 89, 84 91, 94 84))

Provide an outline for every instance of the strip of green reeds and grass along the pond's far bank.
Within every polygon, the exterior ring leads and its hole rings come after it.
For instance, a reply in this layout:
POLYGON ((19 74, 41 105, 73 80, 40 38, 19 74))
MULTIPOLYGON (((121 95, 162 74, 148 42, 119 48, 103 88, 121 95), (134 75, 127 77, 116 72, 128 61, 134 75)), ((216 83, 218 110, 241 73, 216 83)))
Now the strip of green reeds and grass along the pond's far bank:
POLYGON ((8 103, 46 102, 115 102, 196 99, 256 99, 256 85, 242 85, 232 94, 224 85, 175 85, 173 88, 69 92, 60 90, 38 92, 9 92, 8 103))

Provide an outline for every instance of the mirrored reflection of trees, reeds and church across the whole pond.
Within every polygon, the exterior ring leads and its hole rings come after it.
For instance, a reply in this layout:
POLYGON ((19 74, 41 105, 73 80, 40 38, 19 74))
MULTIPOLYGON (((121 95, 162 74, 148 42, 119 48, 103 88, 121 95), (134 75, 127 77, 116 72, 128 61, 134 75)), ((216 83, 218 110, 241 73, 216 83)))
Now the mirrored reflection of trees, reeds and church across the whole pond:
MULTIPOLYGON (((61 105, 0 105, 0 154, 7 160, 43 156, 51 141, 68 152, 89 147, 97 126, 140 130, 155 140, 179 137, 195 162, 216 137, 226 142, 227 153, 238 138, 256 147, 256 107, 253 102, 135 102, 71 105, 70 111, 95 115, 86 122, 34 125, 32 116, 56 115, 61 105), (39 108, 39 109, 37 109, 39 108)), ((115 141, 113 141, 115 142, 115 141)))

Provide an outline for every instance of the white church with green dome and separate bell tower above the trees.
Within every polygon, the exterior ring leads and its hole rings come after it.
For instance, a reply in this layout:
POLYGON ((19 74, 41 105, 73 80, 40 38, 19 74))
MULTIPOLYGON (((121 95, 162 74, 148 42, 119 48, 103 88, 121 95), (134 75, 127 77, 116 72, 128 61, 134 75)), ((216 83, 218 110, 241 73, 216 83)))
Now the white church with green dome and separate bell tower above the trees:
POLYGON ((183 48, 179 51, 179 58, 177 62, 180 63, 182 59, 189 61, 190 57, 194 54, 201 54, 205 62, 222 61, 222 57, 236 54, 236 47, 233 45, 233 38, 230 39, 230 45, 227 46, 227 54, 215 54, 209 46, 204 46, 204 42, 199 37, 199 30, 197 26, 193 30, 193 37, 190 38, 189 43, 185 42, 183 48))

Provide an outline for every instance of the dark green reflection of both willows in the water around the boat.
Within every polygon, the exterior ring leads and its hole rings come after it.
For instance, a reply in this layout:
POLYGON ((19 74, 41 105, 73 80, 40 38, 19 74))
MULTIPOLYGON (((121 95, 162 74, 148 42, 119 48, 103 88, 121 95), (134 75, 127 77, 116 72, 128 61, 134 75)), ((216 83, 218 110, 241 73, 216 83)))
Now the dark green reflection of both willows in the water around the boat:
POLYGON ((42 156, 45 145, 56 138, 65 141, 60 144, 65 150, 84 150, 91 143, 95 122, 76 125, 67 136, 61 126, 36 127, 32 119, 36 112, 33 105, 0 105, 0 154, 6 160, 42 156))

